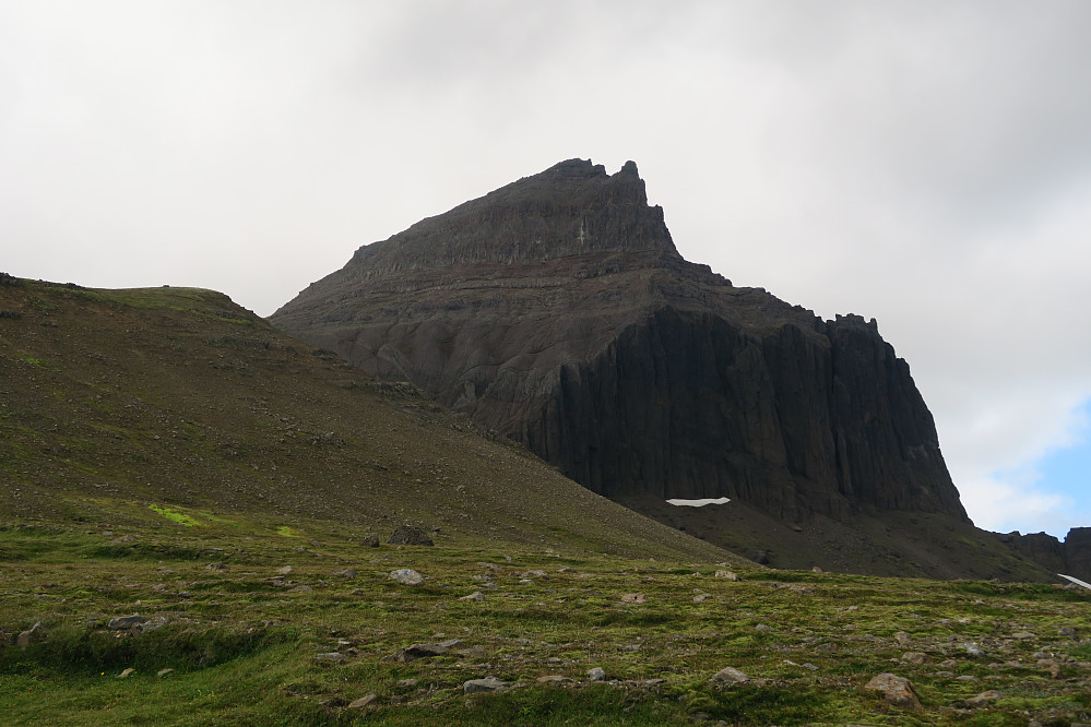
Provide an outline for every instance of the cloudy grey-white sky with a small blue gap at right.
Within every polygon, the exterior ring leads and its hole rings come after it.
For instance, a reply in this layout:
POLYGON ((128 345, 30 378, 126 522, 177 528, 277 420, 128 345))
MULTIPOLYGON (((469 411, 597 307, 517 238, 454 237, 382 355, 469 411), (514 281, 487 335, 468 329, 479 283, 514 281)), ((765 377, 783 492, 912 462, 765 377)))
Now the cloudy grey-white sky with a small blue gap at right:
POLYGON ((1091 2, 0 0, 0 270, 268 315, 572 157, 909 360, 974 522, 1091 526, 1091 2))

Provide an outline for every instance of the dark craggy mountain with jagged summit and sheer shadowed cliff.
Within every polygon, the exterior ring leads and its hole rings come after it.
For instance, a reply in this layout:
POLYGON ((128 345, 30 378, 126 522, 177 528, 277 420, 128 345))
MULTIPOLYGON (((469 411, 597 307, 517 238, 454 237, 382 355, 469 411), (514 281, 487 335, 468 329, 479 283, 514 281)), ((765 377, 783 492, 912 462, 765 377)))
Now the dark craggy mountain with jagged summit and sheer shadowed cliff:
POLYGON ((364 246, 270 320, 761 562, 1041 577, 973 527, 875 320, 686 261, 632 162, 562 162, 364 246))

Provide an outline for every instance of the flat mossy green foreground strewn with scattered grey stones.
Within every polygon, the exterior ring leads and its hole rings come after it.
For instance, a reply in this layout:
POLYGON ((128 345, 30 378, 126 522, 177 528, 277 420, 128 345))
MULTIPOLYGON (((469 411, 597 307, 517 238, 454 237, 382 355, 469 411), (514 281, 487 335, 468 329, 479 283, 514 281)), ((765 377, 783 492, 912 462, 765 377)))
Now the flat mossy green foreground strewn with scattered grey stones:
POLYGON ((0 531, 0 708, 16 723, 1089 720, 1091 593, 1076 587, 442 531, 396 545, 156 508, 154 527, 0 531))

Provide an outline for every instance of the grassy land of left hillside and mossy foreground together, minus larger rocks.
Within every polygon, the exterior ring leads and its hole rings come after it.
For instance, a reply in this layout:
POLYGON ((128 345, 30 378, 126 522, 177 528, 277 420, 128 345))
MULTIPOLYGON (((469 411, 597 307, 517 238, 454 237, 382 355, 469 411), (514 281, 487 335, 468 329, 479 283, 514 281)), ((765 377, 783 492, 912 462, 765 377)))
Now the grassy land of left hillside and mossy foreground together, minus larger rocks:
POLYGON ((27 284, 0 287, 2 310, 22 313, 0 318, 5 722, 1024 725, 1091 710, 1082 592, 737 563, 732 582, 714 575, 723 551, 217 294, 27 284), (440 527, 437 546, 359 544, 402 522, 440 527), (398 585, 396 568, 426 580, 398 585), (133 612, 161 625, 107 628, 133 612), (383 660, 444 639, 461 643, 383 660), (330 652, 344 660, 317 658, 330 652), (754 681, 708 683, 728 665, 754 681), (912 678, 924 710, 864 690, 881 671, 912 678), (465 698, 485 676, 521 686, 465 698), (989 706, 963 702, 986 689, 1001 692, 989 706))

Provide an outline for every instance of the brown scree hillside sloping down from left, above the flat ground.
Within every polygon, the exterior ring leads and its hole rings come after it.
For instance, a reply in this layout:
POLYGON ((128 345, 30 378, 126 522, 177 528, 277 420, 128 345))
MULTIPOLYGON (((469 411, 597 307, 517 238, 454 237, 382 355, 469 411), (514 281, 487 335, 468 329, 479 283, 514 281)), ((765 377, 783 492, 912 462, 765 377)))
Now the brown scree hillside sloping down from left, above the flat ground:
POLYGON ((357 538, 414 524, 446 543, 740 562, 210 290, 0 274, 0 519, 16 523, 188 506, 357 538))

